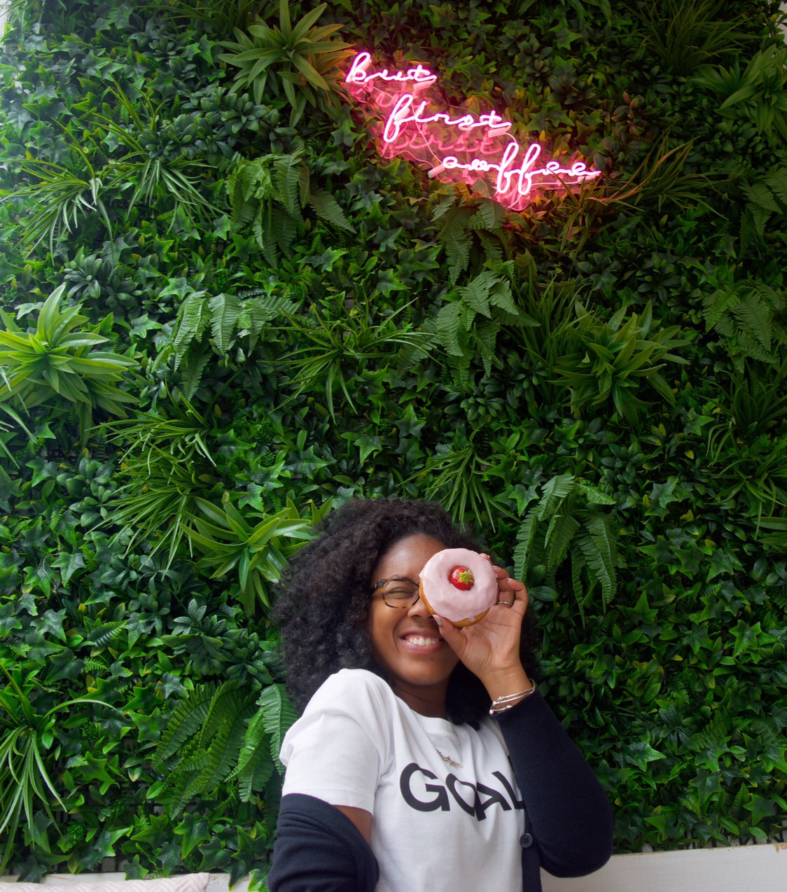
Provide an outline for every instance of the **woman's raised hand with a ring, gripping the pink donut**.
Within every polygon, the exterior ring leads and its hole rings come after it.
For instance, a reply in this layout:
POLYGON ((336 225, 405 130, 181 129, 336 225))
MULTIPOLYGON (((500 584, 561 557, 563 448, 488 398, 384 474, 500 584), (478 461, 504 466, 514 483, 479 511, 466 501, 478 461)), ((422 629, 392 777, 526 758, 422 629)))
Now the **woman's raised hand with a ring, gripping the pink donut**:
MULTIPOLYGON (((489 560, 488 555, 484 557, 489 560)), ((451 649, 484 682, 494 700, 527 690, 530 681, 519 658, 522 620, 527 609, 525 583, 511 579, 500 566, 493 570, 497 576, 498 603, 490 607, 484 619, 463 627, 453 625, 444 616, 435 619, 451 649)))

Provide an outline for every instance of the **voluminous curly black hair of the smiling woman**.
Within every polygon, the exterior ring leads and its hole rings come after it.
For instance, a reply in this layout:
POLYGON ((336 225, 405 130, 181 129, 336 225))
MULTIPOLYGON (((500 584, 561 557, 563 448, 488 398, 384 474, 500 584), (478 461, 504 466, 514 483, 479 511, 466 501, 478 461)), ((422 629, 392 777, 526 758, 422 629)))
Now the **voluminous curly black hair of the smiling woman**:
MULTIPOLYGON (((396 542, 423 533, 446 548, 482 550, 428 501, 352 499, 319 529, 319 537, 291 560, 272 615, 282 634, 287 691, 299 709, 339 669, 369 669, 392 681, 372 657, 364 620, 374 568, 396 542)), ((521 646, 528 674, 534 669, 530 615, 528 610, 521 646)), ((473 726, 489 709, 484 685, 461 663, 451 673, 445 706, 451 722, 473 726)))

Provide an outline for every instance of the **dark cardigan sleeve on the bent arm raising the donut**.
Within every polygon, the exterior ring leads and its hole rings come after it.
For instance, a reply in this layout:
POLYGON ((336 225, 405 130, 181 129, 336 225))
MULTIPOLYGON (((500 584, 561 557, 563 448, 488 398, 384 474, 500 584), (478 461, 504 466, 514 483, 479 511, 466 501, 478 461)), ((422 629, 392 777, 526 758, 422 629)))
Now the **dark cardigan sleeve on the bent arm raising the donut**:
POLYGON ((612 855, 615 815, 546 700, 536 690, 497 721, 544 870, 556 877, 599 870, 612 855))

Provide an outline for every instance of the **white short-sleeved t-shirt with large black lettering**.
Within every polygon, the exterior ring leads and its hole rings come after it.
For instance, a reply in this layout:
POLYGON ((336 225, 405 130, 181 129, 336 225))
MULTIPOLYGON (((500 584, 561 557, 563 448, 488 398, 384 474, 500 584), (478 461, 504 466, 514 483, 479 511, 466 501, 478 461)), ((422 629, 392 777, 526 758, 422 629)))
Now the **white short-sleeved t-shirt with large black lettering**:
POLYGON ((491 719, 475 731, 427 718, 374 673, 342 669, 287 731, 281 761, 284 795, 372 814, 377 892, 521 892, 524 805, 491 719))

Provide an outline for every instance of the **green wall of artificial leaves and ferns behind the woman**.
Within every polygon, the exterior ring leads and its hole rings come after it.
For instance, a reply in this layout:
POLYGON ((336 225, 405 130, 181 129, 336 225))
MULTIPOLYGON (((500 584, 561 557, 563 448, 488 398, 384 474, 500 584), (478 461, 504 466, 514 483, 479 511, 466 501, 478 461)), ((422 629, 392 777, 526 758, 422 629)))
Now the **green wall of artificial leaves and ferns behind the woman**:
POLYGON ((618 851, 782 838, 780 14, 11 5, 4 866, 264 884, 269 602, 355 496, 441 500, 516 559, 618 851), (602 176, 510 212, 381 158, 345 45, 602 176))

